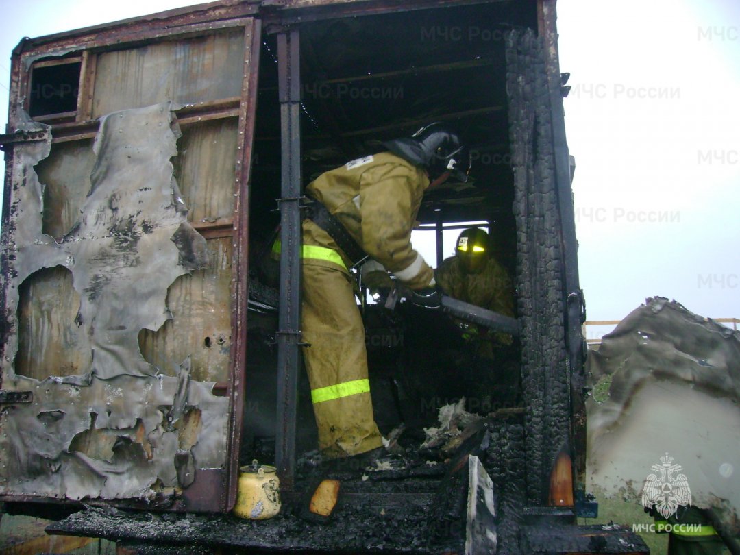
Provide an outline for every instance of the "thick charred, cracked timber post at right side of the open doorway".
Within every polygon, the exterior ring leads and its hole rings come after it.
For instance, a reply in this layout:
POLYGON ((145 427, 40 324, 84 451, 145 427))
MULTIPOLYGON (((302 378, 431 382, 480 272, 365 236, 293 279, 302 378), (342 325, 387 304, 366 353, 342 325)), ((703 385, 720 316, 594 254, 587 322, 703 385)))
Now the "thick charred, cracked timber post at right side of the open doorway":
POLYGON ((557 455, 570 448, 562 241, 551 144, 543 41, 531 30, 505 35, 509 134, 517 222, 517 290, 526 413, 526 499, 548 502, 557 455))

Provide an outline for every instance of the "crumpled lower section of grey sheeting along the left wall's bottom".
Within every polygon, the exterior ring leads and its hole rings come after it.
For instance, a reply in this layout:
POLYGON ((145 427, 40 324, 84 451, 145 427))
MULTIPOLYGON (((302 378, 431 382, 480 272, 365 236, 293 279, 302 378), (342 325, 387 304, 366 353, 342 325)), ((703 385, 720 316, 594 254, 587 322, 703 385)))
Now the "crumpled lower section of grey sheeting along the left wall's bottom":
MULTIPOLYGON (((84 499, 154 499, 152 486, 180 488, 180 431, 166 421, 178 380, 93 377, 90 386, 19 377, 34 403, 0 414, 3 494, 84 499), (87 433, 87 437, 81 434, 87 433)), ((191 382, 188 404, 207 414, 189 452, 198 468, 219 468, 226 451, 228 400, 191 382)))

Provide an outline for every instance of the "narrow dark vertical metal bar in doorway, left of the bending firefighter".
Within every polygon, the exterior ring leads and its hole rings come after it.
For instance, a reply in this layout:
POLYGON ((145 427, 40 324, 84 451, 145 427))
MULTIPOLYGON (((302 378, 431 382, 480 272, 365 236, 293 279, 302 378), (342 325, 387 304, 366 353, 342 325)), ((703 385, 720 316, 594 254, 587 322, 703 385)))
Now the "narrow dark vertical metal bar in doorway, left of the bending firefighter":
POLYGON ((295 421, 300 363, 300 35, 277 36, 280 100, 280 310, 277 332, 277 434, 275 464, 281 488, 295 475, 295 421))

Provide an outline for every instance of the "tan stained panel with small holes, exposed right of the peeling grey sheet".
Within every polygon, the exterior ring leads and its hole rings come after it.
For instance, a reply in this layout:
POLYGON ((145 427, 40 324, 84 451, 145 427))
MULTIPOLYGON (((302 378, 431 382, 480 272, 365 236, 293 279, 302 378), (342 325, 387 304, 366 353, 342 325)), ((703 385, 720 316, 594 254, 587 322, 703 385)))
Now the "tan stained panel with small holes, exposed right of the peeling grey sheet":
POLYGON ((232 344, 232 239, 211 239, 207 245, 209 269, 172 283, 167 293, 172 320, 156 332, 141 330, 139 344, 144 358, 166 375, 174 375, 168 361, 189 354, 193 380, 225 382, 232 344))

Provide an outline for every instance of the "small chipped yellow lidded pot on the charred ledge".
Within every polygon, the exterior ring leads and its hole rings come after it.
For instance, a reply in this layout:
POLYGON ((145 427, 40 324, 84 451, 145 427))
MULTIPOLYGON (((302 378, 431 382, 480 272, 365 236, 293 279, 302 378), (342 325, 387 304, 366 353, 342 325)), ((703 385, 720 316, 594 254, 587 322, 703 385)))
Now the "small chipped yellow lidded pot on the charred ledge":
POLYGON ((234 513, 238 517, 262 520, 280 512, 280 479, 274 466, 251 465, 239 468, 239 489, 234 513))

